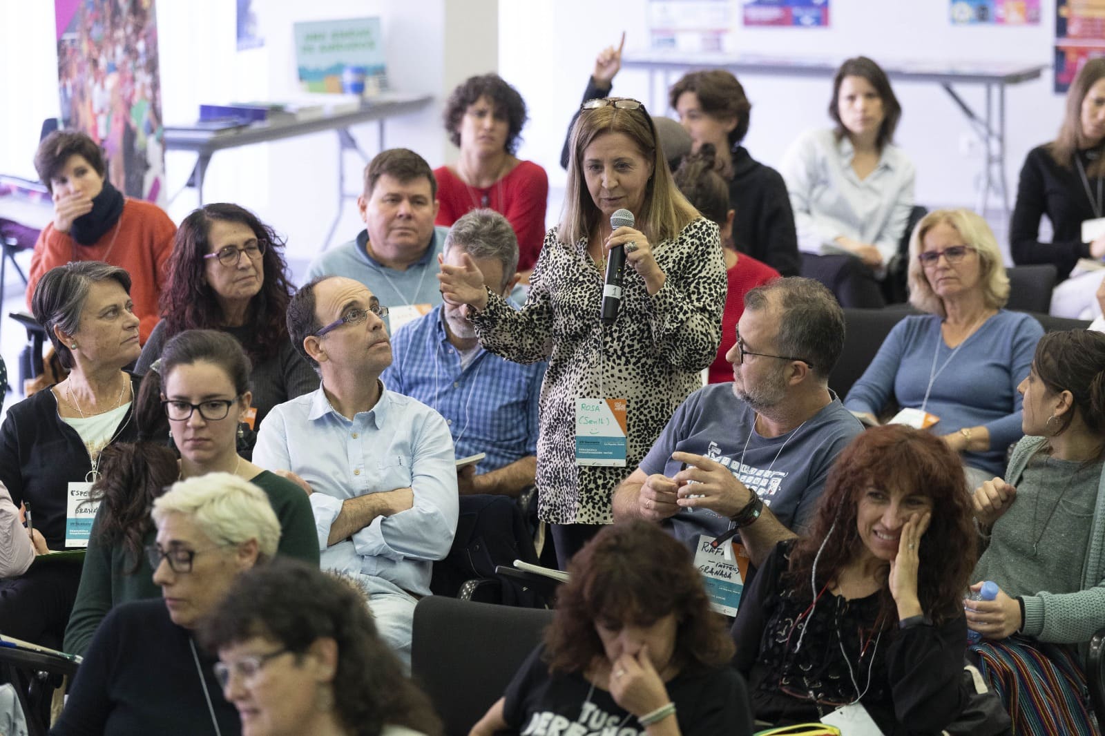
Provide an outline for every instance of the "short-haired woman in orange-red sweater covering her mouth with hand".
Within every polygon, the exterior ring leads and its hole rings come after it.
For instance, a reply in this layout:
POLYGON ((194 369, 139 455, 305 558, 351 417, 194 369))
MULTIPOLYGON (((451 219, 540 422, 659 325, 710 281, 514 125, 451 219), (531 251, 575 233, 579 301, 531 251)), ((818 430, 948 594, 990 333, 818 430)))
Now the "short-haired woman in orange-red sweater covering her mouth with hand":
POLYGON ((31 256, 27 303, 44 273, 72 261, 103 261, 130 274, 130 298, 145 343, 159 319, 165 262, 177 225, 151 202, 128 199, 107 180, 104 155, 78 130, 55 130, 34 155, 34 168, 54 200, 54 219, 31 256))

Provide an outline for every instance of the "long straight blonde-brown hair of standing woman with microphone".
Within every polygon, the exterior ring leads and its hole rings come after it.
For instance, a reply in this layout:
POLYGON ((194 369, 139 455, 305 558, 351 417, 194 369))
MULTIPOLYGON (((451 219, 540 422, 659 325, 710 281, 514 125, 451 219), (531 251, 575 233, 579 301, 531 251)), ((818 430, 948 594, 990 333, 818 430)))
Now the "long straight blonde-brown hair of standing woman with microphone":
MULTIPOLYGON (((619 99, 610 97, 610 99, 619 99)), ((589 238, 602 219, 602 211, 591 199, 583 176, 583 151, 607 133, 622 133, 633 141, 638 151, 652 164, 652 176, 645 185, 644 203, 636 215, 638 230, 653 243, 671 240, 701 217, 672 179, 671 169, 656 136, 656 128, 649 112, 622 109, 608 105, 580 112, 571 128, 571 157, 568 161, 568 183, 565 188, 564 211, 557 234, 561 243, 575 243, 589 238)))

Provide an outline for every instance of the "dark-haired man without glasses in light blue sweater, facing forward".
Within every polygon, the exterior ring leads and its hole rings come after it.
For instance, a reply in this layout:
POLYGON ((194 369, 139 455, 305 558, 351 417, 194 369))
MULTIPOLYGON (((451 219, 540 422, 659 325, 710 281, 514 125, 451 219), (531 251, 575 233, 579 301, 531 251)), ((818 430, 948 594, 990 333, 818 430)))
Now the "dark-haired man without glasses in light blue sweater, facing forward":
POLYGON ((356 278, 386 304, 389 327, 399 327, 441 304, 438 256, 448 228, 434 228, 438 180, 421 156, 407 148, 381 151, 365 168, 365 193, 357 209, 366 229, 326 251, 307 278, 356 278))

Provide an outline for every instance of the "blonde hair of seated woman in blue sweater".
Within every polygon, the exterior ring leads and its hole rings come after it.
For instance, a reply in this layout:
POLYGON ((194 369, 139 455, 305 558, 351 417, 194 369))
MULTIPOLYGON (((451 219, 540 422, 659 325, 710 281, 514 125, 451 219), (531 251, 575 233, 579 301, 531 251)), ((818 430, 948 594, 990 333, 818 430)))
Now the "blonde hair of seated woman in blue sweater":
POLYGON ((964 239, 964 245, 978 253, 982 301, 991 309, 1000 309, 1009 301, 1009 276, 1001 262, 1001 251, 993 231, 981 217, 966 209, 934 210, 922 218, 909 238, 909 304, 922 312, 946 317, 944 299, 936 295, 917 255, 922 252, 925 235, 940 223, 949 225, 964 239))

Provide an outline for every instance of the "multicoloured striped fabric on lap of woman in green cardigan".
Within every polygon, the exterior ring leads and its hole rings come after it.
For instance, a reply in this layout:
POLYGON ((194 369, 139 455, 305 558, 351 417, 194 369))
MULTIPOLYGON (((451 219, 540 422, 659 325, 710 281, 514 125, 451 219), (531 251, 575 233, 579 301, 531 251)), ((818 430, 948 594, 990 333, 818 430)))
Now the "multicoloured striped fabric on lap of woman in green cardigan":
POLYGON ((1015 634, 968 649, 1006 705, 1018 736, 1101 736, 1073 649, 1015 634))

